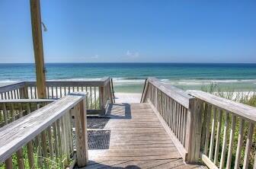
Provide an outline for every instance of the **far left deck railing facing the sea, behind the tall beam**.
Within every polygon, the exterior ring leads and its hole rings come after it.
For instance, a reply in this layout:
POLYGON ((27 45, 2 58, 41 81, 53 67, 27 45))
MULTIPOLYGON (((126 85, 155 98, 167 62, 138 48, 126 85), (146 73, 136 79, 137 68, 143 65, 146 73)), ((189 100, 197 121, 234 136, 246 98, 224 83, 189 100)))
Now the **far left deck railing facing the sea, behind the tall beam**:
MULTIPOLYGON (((101 78, 98 81, 46 81, 46 98, 59 99, 75 91, 88 93, 86 108, 88 114, 104 114, 109 103, 114 103, 114 90, 112 78, 101 78)), ((35 81, 0 87, 0 99, 37 99, 35 81)))

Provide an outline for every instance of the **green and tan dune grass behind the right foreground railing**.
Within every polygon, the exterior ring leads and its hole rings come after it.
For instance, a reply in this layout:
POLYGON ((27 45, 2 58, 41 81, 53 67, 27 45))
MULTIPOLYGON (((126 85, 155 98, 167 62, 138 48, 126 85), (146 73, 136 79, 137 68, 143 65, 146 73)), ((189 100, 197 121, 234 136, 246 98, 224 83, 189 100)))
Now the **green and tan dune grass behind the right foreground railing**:
MULTIPOLYGON (((255 91, 248 91, 248 92, 242 92, 242 91, 234 91, 232 89, 230 89, 229 91, 223 91, 222 88, 219 87, 219 85, 216 84, 211 84, 208 86, 203 86, 201 88, 202 91, 206 91, 208 93, 217 95, 219 97, 224 97, 226 99, 229 100, 234 100, 237 102, 240 102, 242 104, 248 104, 252 107, 256 107, 256 92, 255 91)), ((221 155, 221 151, 222 151, 222 140, 223 140, 223 132, 224 132, 224 123, 225 123, 225 116, 222 116, 222 131, 221 131, 221 142, 219 144, 219 161, 220 161, 220 155, 221 155)), ((233 151, 232 151, 232 167, 234 167, 235 164, 235 153, 236 153, 236 147, 238 144, 238 131, 239 131, 239 117, 236 120, 236 126, 235 126, 235 142, 233 145, 233 151)), ((229 127, 231 124, 231 115, 229 115, 229 127)), ((245 145, 246 145, 246 139, 248 136, 248 121, 245 121, 245 129, 244 129, 244 136, 243 136, 243 148, 242 148, 242 158, 240 161, 240 167, 242 167, 243 164, 243 159, 245 157, 245 145)), ((228 130, 229 131, 229 130, 228 130)), ((229 132, 228 132, 229 133, 229 132)), ((256 154, 256 127, 254 126, 254 135, 253 135, 253 142, 251 145, 251 153, 250 153, 250 157, 249 157, 249 161, 250 164, 248 166, 248 168, 253 168, 253 164, 254 164, 254 156, 256 154)), ((228 135, 228 142, 229 142, 229 135, 228 135)), ((227 149, 226 148, 226 158, 227 158, 227 149)), ((226 166, 225 166, 226 167, 226 166)))

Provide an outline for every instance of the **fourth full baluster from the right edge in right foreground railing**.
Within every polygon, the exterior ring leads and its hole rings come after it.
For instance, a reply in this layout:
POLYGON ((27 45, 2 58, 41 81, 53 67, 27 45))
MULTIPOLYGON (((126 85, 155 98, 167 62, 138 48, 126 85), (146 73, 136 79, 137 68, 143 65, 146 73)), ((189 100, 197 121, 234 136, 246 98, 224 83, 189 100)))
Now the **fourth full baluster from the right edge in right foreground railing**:
POLYGON ((228 129, 229 129, 229 112, 226 112, 223 141, 222 141, 222 154, 221 154, 221 158, 220 158, 219 168, 224 167, 224 162, 225 162, 225 158, 226 158, 226 145, 227 145, 228 129))

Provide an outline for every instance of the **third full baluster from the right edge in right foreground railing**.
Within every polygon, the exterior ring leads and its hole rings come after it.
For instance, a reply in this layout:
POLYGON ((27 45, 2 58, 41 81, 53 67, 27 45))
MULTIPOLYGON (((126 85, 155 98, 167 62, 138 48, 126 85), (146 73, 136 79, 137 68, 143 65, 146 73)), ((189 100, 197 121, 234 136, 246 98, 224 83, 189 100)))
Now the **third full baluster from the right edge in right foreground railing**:
POLYGON ((227 158, 227 164, 226 164, 227 169, 231 167, 232 150, 233 150, 234 135, 235 135, 235 123, 236 123, 236 116, 232 114, 232 121, 231 121, 230 135, 229 135, 229 150, 228 150, 228 158, 227 158))

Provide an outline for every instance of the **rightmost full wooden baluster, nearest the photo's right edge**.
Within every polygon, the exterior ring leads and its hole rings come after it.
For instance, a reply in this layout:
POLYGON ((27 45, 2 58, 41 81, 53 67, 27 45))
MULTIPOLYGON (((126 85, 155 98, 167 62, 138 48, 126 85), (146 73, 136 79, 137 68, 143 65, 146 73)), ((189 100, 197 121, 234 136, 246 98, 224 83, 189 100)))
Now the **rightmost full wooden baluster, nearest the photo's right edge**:
POLYGON ((250 151, 251 151, 251 144, 252 144, 252 136, 254 134, 254 123, 249 123, 249 128, 248 128, 248 135, 247 135, 247 140, 246 140, 246 145, 245 145, 245 159, 244 159, 244 164, 243 164, 243 169, 248 168, 249 165, 249 157, 250 157, 250 151))

